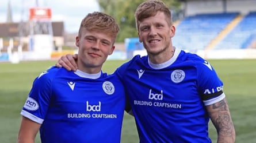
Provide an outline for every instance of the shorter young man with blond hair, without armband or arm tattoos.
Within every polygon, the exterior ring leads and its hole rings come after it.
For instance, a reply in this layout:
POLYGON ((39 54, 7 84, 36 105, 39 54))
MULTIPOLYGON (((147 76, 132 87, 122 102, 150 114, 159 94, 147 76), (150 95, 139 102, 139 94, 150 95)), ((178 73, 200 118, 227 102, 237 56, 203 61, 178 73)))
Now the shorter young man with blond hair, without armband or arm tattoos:
POLYGON ((24 107, 18 143, 120 142, 125 93, 116 76, 101 70, 113 53, 116 21, 100 12, 88 14, 75 38, 76 72, 52 67, 33 82, 24 107))

